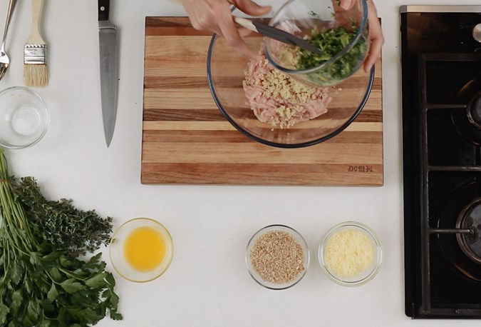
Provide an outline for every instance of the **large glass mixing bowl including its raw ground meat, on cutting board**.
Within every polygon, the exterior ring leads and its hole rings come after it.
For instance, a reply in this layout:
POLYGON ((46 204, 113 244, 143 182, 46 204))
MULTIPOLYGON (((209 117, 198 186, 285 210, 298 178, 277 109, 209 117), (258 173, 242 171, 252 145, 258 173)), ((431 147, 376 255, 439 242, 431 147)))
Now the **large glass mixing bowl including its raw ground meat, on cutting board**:
MULTIPOLYGON (((233 14, 241 15, 237 9, 233 14)), ((259 34, 252 32, 244 41, 255 54, 251 59, 224 38, 212 37, 207 80, 219 111, 249 139, 279 148, 312 146, 340 134, 361 113, 374 69, 358 69, 335 85, 315 87, 274 68, 266 57, 266 39, 259 34)))

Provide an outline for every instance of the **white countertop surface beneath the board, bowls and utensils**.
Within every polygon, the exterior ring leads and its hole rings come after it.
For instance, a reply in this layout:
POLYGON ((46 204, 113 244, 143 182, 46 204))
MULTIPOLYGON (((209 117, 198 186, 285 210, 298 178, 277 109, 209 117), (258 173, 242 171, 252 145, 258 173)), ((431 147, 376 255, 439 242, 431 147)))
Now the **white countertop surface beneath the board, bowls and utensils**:
MULTIPOLYGON (((0 89, 22 85, 23 45, 31 1, 19 1, 7 50, 11 66, 0 89)), ((479 321, 412 321, 404 315, 403 198, 400 134, 401 4, 479 4, 479 0, 377 0, 383 19, 384 173, 382 187, 143 186, 140 154, 145 16, 184 16, 165 0, 113 0, 110 19, 120 33, 117 124, 105 146, 100 112, 96 1, 46 1, 50 84, 36 91, 51 110, 44 139, 7 151, 11 173, 35 176, 48 198, 113 216, 115 227, 147 216, 165 224, 175 242, 168 271, 138 284, 115 274, 120 322, 98 326, 479 326, 479 321), (365 286, 332 283, 311 256, 305 278, 286 291, 269 291, 247 273, 244 250, 271 223, 296 228, 311 255, 336 223, 356 220, 380 236, 385 260, 365 286)), ((4 26, 7 0, 0 1, 4 26)), ((1 29, 3 32, 3 29, 1 29)), ((104 260, 108 251, 104 249, 104 260)))

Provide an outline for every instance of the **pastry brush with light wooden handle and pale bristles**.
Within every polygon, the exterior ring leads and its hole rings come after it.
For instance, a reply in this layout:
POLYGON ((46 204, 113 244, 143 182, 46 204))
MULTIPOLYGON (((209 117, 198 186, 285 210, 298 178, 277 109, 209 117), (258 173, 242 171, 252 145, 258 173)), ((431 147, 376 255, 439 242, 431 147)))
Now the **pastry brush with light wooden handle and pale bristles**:
POLYGON ((47 44, 40 33, 43 0, 32 0, 32 31, 24 46, 24 81, 26 86, 48 84, 47 44))

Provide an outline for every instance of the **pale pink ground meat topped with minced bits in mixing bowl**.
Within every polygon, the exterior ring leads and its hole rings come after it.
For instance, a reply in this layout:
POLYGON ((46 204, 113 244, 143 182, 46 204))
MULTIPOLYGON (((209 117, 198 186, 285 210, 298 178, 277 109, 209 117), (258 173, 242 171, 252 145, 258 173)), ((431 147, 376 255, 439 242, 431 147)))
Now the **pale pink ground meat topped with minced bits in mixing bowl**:
POLYGON ((331 101, 329 89, 306 86, 274 69, 263 45, 249 61, 243 86, 257 119, 280 128, 326 114, 331 101))

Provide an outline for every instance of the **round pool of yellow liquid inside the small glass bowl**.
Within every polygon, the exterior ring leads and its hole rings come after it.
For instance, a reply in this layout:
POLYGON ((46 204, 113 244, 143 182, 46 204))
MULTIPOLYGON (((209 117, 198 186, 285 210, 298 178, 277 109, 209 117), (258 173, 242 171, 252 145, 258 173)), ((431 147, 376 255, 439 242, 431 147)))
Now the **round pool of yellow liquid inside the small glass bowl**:
POLYGON ((160 266, 166 251, 166 243, 162 234, 148 226, 131 231, 123 245, 125 261, 136 271, 143 272, 152 271, 160 266))

